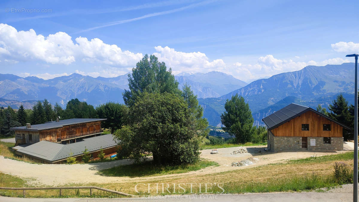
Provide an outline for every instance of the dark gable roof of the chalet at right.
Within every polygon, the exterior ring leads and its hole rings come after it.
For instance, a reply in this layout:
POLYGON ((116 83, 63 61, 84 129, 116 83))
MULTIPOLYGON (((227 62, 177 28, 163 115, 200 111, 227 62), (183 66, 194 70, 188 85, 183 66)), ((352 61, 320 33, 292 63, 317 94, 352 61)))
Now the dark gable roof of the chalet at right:
POLYGON ((266 124, 268 129, 271 130, 273 128, 276 128, 276 127, 288 122, 289 120, 294 119, 297 116, 300 116, 300 115, 306 113, 307 111, 313 111, 314 113, 316 113, 330 121, 333 121, 334 123, 337 123, 346 129, 350 129, 348 126, 329 118, 328 116, 320 113, 317 110, 312 109, 311 107, 302 106, 302 105, 298 105, 298 104, 294 104, 294 103, 283 107, 282 109, 267 116, 266 118, 263 118, 262 121, 266 124))

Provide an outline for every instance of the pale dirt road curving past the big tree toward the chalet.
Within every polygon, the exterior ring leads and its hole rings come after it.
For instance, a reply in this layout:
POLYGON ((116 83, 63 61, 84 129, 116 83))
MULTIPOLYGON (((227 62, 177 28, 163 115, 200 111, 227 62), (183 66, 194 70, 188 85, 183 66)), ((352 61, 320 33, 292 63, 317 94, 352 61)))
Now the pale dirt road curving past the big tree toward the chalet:
POLYGON ((332 152, 264 152, 265 146, 251 146, 251 147, 230 147, 220 148, 219 153, 210 154, 211 150, 202 150, 201 157, 210 161, 218 162, 220 166, 207 167, 205 169, 191 171, 189 173, 171 174, 165 176, 150 176, 150 177, 107 177, 96 174, 99 170, 115 167, 119 165, 131 164, 131 161, 117 160, 111 162, 102 162, 95 164, 29 164, 27 162, 5 159, 0 156, 0 171, 6 174, 28 178, 28 182, 33 185, 65 185, 69 183, 91 183, 91 182, 134 182, 149 179, 160 179, 164 177, 186 176, 186 175, 203 175, 209 173, 218 173, 222 171, 243 169, 248 167, 255 167, 276 162, 284 162, 290 159, 306 158, 310 156, 323 156, 342 153, 346 151, 332 151, 332 152), (230 153, 239 148, 246 149, 248 153, 241 153, 231 155, 230 153), (259 153, 258 151, 261 150, 259 153), (247 159, 248 157, 256 157, 259 162, 249 166, 233 167, 231 163, 247 159))

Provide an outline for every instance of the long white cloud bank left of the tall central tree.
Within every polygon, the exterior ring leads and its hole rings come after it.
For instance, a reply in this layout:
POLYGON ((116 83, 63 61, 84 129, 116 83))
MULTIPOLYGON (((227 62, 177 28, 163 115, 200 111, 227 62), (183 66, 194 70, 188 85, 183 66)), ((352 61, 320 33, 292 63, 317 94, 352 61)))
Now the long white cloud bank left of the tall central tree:
POLYGON ((50 64, 69 65, 75 61, 97 62, 108 65, 132 66, 143 55, 122 51, 117 45, 109 45, 98 38, 84 37, 71 40, 65 32, 37 35, 33 29, 17 31, 7 24, 0 24, 0 56, 15 60, 41 60, 50 64))

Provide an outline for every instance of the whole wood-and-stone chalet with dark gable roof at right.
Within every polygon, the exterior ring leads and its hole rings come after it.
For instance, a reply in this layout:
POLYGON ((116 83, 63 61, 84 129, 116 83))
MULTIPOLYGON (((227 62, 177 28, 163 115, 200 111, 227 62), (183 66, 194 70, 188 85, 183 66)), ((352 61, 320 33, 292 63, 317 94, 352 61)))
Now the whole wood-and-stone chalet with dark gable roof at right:
POLYGON ((349 127, 306 106, 290 104, 262 119, 268 150, 343 150, 343 130, 349 127))

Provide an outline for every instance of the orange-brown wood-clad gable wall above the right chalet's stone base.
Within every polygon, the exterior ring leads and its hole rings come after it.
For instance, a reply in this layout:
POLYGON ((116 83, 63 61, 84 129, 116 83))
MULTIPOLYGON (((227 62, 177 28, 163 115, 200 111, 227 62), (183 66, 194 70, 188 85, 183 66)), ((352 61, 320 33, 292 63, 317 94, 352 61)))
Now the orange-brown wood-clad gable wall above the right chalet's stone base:
POLYGON ((270 131, 280 137, 343 137, 341 125, 313 111, 307 111, 270 131), (309 124, 309 130, 302 130, 302 124, 309 124), (330 124, 331 130, 323 130, 323 124, 330 124))

